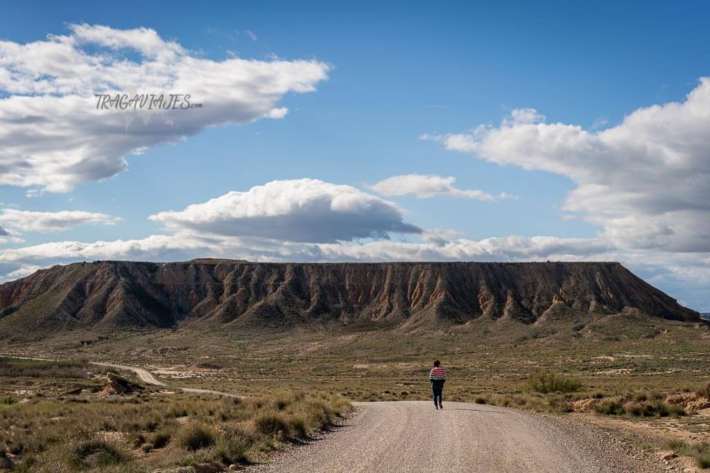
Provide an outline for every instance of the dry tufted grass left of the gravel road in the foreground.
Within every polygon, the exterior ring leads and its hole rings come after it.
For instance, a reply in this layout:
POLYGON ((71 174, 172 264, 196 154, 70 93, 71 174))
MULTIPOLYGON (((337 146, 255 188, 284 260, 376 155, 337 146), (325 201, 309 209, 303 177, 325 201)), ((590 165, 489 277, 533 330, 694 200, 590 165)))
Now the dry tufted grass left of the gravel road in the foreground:
POLYGON ((83 401, 0 406, 0 452, 20 472, 223 469, 307 438, 350 408, 339 396, 292 391, 253 399, 139 394, 83 401))

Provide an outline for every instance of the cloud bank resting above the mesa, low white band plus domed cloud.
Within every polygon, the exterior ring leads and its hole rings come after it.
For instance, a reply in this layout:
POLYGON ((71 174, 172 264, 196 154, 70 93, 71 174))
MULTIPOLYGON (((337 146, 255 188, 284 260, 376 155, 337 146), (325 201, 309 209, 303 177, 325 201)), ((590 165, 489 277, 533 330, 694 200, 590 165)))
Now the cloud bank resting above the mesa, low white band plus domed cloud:
MULTIPOLYGON (((351 186, 317 179, 273 181, 231 191, 182 211, 149 216, 165 226, 165 234, 0 249, 0 273, 4 274, 0 279, 72 261, 170 261, 203 256, 263 262, 613 260, 655 284, 691 290, 697 300, 710 296, 707 254, 632 250, 606 233, 594 238, 509 235, 474 240, 453 229, 421 228, 405 221, 407 216, 393 202, 351 186)), ((111 217, 92 216, 87 221, 110 224, 111 217)), ((81 222, 80 218, 75 221, 81 222)))

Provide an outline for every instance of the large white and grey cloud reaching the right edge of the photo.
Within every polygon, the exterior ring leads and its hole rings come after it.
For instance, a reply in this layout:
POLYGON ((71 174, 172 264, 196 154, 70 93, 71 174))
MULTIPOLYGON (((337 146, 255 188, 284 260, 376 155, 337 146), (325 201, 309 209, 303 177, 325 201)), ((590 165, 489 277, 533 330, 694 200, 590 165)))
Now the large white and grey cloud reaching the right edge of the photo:
POLYGON ((514 111, 498 128, 422 138, 498 165, 569 177, 577 188, 563 210, 584 214, 603 228, 601 238, 621 247, 710 251, 709 78, 685 101, 639 108, 606 130, 535 116, 514 111))

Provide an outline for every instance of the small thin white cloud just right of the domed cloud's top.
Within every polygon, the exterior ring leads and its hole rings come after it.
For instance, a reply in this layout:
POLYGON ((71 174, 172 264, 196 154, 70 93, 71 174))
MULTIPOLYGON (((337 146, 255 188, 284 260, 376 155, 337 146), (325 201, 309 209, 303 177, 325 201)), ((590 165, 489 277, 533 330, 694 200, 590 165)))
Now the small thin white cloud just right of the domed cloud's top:
POLYGON ((497 196, 479 190, 466 190, 454 187, 455 177, 440 177, 428 174, 405 174, 402 176, 388 177, 373 184, 370 189, 383 196, 405 196, 413 194, 419 199, 429 199, 434 196, 448 195, 464 199, 478 199, 481 201, 496 201, 507 199, 509 194, 502 192, 497 196))

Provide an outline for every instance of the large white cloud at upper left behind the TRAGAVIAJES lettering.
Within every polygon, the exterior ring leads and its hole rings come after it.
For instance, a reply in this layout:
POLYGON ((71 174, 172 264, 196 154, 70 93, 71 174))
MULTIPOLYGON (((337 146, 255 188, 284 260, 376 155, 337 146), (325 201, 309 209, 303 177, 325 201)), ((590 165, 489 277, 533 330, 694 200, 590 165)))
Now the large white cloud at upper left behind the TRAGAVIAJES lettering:
POLYGON ((314 91, 316 60, 209 60, 155 30, 71 25, 33 43, 0 41, 0 185, 70 191, 126 169, 126 155, 207 126, 283 118, 314 91), (190 94, 201 108, 97 110, 94 94, 190 94))

